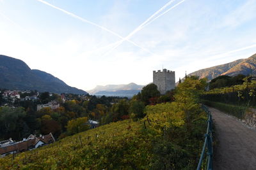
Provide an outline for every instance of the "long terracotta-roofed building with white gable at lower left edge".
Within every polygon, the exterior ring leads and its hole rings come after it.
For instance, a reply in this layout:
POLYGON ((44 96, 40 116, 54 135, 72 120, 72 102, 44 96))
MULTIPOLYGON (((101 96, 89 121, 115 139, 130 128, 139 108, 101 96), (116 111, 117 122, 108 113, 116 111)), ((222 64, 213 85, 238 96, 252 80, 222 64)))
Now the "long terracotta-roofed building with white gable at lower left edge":
POLYGON ((33 150, 40 146, 48 145, 54 143, 55 139, 52 136, 52 133, 49 133, 45 136, 40 135, 36 137, 31 134, 27 139, 24 138, 22 141, 13 141, 12 138, 0 141, 0 157, 5 157, 6 155, 25 152, 27 150, 33 150))

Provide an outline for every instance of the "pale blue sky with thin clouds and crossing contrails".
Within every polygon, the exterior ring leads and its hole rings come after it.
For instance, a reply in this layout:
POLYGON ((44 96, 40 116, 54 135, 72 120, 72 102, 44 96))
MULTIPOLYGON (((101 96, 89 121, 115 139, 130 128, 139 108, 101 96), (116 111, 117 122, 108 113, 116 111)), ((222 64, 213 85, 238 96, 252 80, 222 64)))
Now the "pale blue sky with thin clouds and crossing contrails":
POLYGON ((0 54, 83 90, 256 53, 255 0, 0 0, 0 54))

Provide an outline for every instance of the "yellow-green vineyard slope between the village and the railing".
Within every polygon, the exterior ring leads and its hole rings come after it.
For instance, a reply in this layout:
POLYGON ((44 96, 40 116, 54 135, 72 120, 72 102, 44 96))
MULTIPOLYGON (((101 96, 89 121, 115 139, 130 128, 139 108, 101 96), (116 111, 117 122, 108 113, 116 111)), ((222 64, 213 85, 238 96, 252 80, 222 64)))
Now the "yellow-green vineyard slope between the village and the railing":
POLYGON ((145 117, 68 136, 0 159, 0 169, 195 169, 206 129, 196 103, 202 81, 178 85, 175 101, 145 108, 145 117))

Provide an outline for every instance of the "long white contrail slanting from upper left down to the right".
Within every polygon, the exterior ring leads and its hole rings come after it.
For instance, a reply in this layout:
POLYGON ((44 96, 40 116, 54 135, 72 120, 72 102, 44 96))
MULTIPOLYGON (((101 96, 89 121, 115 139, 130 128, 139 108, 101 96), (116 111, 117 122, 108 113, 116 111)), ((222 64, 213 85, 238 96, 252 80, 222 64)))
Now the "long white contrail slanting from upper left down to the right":
MULTIPOLYGON (((107 31, 107 32, 109 32, 109 33, 111 33, 111 34, 113 34, 113 35, 115 35, 115 36, 118 36, 118 38, 124 39, 123 36, 120 36, 119 34, 116 34, 116 32, 113 32, 113 31, 107 29, 106 27, 102 27, 101 25, 95 24, 94 22, 91 22, 90 20, 86 20, 86 19, 84 19, 84 18, 82 18, 82 17, 79 17, 79 16, 75 15, 74 13, 71 13, 71 12, 69 12, 69 11, 63 10, 63 9, 57 7, 57 6, 54 6, 53 4, 47 3, 47 2, 44 1, 44 0, 36 0, 36 1, 39 1, 40 3, 44 3, 44 4, 48 5, 48 6, 51 6, 52 8, 55 8, 56 10, 60 10, 60 11, 62 11, 63 13, 66 13, 67 15, 70 15, 71 17, 77 18, 78 20, 81 20, 81 21, 86 22, 86 23, 91 24, 91 25, 95 25, 96 27, 99 27, 100 29, 102 29, 102 30, 104 30, 104 31, 107 31)), ((141 48, 142 50, 145 50, 145 51, 147 51, 147 52, 149 52, 149 53, 152 53, 152 52, 150 52, 149 50, 143 48, 142 46, 138 45, 137 43, 134 43, 133 41, 131 41, 131 40, 129 40, 129 39, 125 39, 125 40, 126 40, 126 41, 129 41, 129 43, 132 43, 132 44, 135 45, 135 46, 138 46, 138 47, 141 48)), ((125 41, 125 40, 124 40, 124 41, 125 41)), ((117 42, 118 42, 118 41, 117 41, 117 42)), ((116 42, 116 43, 117 43, 117 42, 116 42)))

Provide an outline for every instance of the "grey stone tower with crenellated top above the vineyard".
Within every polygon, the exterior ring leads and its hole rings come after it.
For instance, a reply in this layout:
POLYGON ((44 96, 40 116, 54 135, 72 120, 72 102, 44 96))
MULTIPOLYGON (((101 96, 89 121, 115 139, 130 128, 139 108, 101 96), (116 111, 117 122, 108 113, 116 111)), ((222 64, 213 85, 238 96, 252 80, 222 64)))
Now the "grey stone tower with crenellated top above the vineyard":
POLYGON ((157 89, 161 94, 165 94, 168 90, 175 88, 175 71, 167 69, 153 71, 153 83, 157 85, 157 89))

